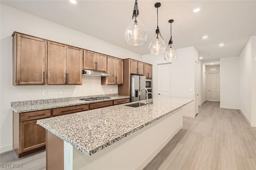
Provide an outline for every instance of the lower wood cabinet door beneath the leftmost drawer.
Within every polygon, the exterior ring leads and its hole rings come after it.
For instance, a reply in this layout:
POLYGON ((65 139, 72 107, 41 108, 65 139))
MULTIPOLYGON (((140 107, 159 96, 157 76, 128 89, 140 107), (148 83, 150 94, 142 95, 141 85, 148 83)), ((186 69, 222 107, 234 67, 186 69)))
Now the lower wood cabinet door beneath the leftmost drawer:
POLYGON ((46 129, 36 124, 34 121, 20 123, 21 147, 20 153, 45 146, 46 129))

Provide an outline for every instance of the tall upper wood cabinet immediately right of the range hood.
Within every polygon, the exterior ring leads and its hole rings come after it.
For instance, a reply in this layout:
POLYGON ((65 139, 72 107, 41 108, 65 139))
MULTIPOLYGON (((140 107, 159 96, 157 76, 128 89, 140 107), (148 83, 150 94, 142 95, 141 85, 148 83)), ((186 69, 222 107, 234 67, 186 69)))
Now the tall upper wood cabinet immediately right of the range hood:
POLYGON ((102 77, 102 85, 122 85, 123 84, 123 67, 122 59, 108 56, 107 72, 110 76, 102 77))

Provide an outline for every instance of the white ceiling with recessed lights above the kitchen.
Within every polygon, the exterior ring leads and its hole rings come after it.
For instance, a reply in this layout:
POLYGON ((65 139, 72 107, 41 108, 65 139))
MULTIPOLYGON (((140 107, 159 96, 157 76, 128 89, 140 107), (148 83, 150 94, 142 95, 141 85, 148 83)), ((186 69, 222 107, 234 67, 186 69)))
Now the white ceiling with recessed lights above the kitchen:
POLYGON ((1 0, 2 4, 39 16, 46 20, 78 30, 141 55, 148 54, 148 45, 156 30, 156 8, 159 28, 168 43, 170 24, 176 48, 195 46, 202 61, 218 64, 219 58, 236 57, 250 36, 256 35, 256 0, 250 1, 172 1, 138 0, 140 19, 148 32, 146 44, 130 46, 125 43, 124 31, 134 8, 134 0, 1 0), (193 13, 192 9, 201 11, 193 13), (206 40, 202 36, 208 35, 206 40), (224 47, 219 47, 224 43, 224 47))

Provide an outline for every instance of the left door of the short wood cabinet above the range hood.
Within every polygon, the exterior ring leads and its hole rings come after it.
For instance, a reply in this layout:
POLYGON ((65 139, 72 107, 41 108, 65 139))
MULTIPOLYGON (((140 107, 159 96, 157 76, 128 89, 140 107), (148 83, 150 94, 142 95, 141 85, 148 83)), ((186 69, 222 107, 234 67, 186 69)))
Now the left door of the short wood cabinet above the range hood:
POLYGON ((84 50, 84 69, 96 69, 96 53, 84 50))

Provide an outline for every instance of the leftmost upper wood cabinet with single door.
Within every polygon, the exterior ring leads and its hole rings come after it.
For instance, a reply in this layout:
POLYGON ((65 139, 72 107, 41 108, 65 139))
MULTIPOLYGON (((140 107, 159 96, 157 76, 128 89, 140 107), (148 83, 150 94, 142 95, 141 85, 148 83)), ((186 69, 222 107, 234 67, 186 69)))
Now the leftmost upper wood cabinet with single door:
POLYGON ((14 37, 14 85, 44 85, 46 41, 16 34, 14 37))

